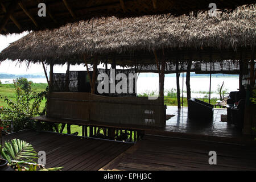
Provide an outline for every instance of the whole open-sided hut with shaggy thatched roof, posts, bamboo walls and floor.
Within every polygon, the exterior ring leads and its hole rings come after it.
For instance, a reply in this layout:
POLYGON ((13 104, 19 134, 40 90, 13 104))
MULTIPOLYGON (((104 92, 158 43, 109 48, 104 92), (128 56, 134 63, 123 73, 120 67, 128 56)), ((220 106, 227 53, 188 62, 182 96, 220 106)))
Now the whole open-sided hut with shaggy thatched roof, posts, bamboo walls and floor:
MULTIPOLYGON (((137 138, 145 132, 241 138, 241 131, 236 131, 234 126, 215 122, 220 114, 224 114, 219 110, 213 114, 212 122, 203 125, 191 122, 185 108, 170 111, 176 117, 166 121, 168 109, 164 106, 164 75, 187 73, 188 99, 191 98, 191 72, 239 74, 240 86, 247 86, 247 90, 251 91, 255 86, 254 19, 254 5, 250 5, 238 7, 230 14, 218 12, 213 18, 203 13, 197 17, 142 16, 79 22, 56 30, 31 32, 3 50, 0 60, 50 65, 47 115, 34 118, 39 121, 67 123, 69 128, 73 124, 82 125, 84 131, 90 126, 90 133, 94 135, 95 128, 104 127, 108 130, 105 137, 113 137, 113 130, 119 129, 135 130, 137 138), (65 75, 59 76, 53 73, 53 65, 65 63, 85 64, 87 68, 90 64, 93 72, 73 73, 67 70, 65 75), (158 73, 159 97, 154 100, 98 95, 96 80, 99 63, 112 64, 112 68, 117 65, 133 68, 135 73, 158 73), (71 92, 67 85, 71 85, 73 76, 80 73, 89 80, 86 84, 90 85, 90 90, 71 92), (55 80, 57 77, 65 80, 65 84, 61 85, 65 92, 53 92, 59 84, 55 80)), ((108 68, 106 71, 109 72, 108 68)), ((254 108, 250 105, 246 108, 243 134, 252 134, 254 108)))

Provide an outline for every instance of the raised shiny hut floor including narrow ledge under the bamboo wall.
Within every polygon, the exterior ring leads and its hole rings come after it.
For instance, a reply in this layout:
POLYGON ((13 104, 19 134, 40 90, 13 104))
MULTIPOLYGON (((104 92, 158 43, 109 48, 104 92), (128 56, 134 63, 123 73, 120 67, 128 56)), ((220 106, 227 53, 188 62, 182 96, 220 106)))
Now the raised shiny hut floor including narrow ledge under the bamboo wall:
POLYGON ((140 126, 131 124, 105 123, 96 121, 81 121, 77 119, 56 119, 35 117, 38 121, 69 123, 71 125, 103 126, 117 129, 143 130, 146 134, 161 135, 166 137, 209 140, 228 143, 251 143, 254 136, 243 135, 234 125, 221 122, 221 114, 226 114, 226 109, 214 109, 213 121, 197 122, 188 118, 188 108, 177 109, 177 106, 167 106, 166 114, 174 115, 166 121, 164 127, 140 126))

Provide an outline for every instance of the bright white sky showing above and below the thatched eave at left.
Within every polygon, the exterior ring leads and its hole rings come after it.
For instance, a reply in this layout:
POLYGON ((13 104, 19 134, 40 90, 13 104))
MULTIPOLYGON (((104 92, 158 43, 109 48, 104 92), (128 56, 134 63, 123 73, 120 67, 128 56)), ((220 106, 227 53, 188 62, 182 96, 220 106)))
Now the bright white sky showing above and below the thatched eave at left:
MULTIPOLYGON (((0 35, 0 52, 8 47, 10 43, 27 35, 28 32, 23 32, 22 34, 13 34, 3 36, 0 35)), ((98 68, 103 68, 103 65, 99 65, 98 68)), ((49 65, 46 65, 47 72, 49 72, 49 65)), ((55 73, 65 73, 67 70, 67 65, 55 65, 53 71, 55 73)), ((70 71, 85 71, 84 65, 71 65, 70 71)), ((31 64, 27 68, 26 63, 17 64, 17 61, 5 60, 0 64, 0 73, 7 73, 13 75, 44 75, 42 64, 31 64)))

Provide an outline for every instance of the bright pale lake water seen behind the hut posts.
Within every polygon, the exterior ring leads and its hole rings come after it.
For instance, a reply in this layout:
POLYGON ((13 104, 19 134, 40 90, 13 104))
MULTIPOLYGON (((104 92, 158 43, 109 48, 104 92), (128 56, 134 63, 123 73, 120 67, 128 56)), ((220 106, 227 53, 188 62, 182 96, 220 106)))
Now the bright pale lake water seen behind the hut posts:
MULTIPOLYGON (((28 78, 29 81, 35 83, 47 83, 46 78, 28 78)), ((238 77, 212 77, 212 92, 216 92, 218 84, 222 84, 224 81, 224 88, 228 89, 228 92, 237 90, 239 88, 238 77)), ((13 79, 1 79, 2 84, 13 83, 13 79)), ((191 96, 192 97, 204 97, 207 94, 198 93, 199 91, 209 92, 209 77, 191 77, 191 96)), ((155 91, 158 93, 158 77, 138 77, 137 80, 137 93, 146 93, 155 91)), ((176 77, 164 78, 164 90, 171 90, 176 88, 176 77)), ((180 77, 180 89, 182 90, 182 77, 180 77)), ((186 90, 185 77, 184 77, 184 90, 186 90)), ((184 93, 184 97, 186 93, 184 93)), ((217 93, 213 93, 211 97, 219 97, 217 93)))

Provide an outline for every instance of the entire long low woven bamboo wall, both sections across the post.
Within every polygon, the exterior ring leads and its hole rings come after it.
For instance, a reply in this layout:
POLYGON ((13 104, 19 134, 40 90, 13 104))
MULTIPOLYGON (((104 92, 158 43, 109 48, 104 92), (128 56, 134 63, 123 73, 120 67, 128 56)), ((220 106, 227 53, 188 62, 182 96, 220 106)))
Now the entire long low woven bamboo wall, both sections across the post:
POLYGON ((160 99, 147 97, 50 92, 47 99, 47 117, 143 126, 164 126, 163 108, 160 99))

